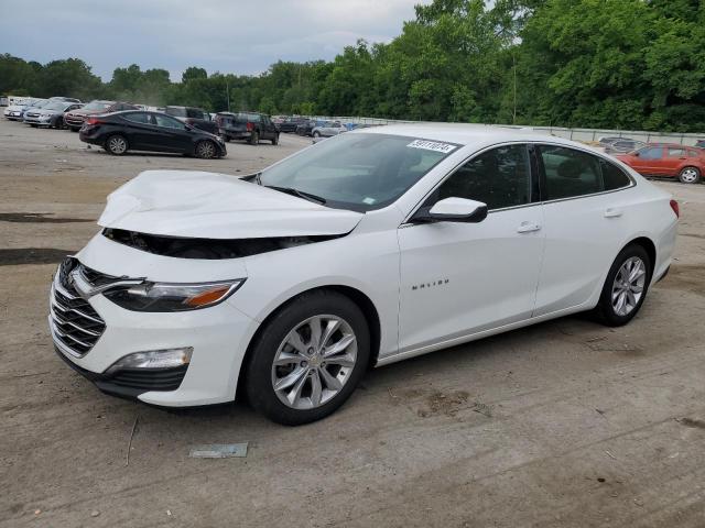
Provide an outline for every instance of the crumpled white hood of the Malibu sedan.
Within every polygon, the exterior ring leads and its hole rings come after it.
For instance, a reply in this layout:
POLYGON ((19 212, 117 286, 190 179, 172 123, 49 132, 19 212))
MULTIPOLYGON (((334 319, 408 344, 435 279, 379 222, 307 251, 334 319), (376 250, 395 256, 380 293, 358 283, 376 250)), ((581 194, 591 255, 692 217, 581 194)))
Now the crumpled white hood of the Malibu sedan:
POLYGON ((344 234, 362 217, 236 176, 145 170, 108 197, 98 224, 165 237, 257 239, 344 234))

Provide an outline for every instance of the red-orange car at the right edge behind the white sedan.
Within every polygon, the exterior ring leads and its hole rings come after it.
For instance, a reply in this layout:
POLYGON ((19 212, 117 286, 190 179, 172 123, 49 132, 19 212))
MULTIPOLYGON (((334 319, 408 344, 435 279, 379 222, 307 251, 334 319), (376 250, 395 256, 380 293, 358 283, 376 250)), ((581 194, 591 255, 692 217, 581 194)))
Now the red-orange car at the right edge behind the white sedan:
POLYGON ((699 183, 705 172, 705 151, 677 143, 649 143, 615 157, 644 176, 679 178, 684 184, 699 183))

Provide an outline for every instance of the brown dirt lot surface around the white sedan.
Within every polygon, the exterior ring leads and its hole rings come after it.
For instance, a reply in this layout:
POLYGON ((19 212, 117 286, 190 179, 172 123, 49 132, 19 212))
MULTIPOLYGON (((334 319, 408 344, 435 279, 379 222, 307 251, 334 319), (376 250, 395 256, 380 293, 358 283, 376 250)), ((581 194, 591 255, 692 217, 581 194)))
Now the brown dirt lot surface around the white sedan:
POLYGON ((572 317, 379 369, 311 426, 116 399, 62 363, 50 278, 108 193, 307 143, 116 158, 0 120, 0 527, 705 526, 705 186, 659 184, 681 200, 677 261, 627 327, 572 317))

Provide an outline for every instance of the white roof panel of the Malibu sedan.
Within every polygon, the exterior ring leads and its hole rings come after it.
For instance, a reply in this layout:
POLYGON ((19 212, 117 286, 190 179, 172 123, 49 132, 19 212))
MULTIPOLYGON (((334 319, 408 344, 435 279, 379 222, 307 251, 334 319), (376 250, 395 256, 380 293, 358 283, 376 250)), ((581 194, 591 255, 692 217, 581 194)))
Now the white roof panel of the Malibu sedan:
POLYGON ((491 124, 409 123, 373 127, 369 129, 361 129, 359 132, 358 130, 359 129, 356 129, 348 133, 406 135, 411 138, 457 143, 460 145, 474 145, 478 147, 496 143, 505 143, 508 141, 522 141, 534 143, 562 143, 565 145, 594 150, 583 143, 565 140, 547 133, 491 124))

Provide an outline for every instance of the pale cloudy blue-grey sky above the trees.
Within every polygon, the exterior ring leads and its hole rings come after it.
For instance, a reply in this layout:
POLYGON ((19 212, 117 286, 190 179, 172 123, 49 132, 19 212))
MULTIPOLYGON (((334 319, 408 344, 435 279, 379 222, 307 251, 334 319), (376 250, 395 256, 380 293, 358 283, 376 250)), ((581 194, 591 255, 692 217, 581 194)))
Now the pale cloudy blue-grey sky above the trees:
POLYGON ((389 42, 430 0, 0 0, 0 53, 116 67, 259 74, 278 59, 332 59, 358 38, 389 42))

